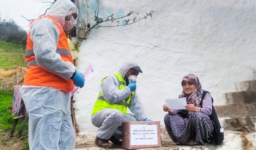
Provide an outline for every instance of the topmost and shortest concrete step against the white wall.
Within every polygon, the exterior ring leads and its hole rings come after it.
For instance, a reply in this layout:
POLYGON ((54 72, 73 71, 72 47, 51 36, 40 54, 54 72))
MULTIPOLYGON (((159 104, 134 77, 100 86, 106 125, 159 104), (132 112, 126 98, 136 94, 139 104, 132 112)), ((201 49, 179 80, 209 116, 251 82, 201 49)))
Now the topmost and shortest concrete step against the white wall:
POLYGON ((236 82, 235 86, 237 91, 256 90, 256 80, 236 82))

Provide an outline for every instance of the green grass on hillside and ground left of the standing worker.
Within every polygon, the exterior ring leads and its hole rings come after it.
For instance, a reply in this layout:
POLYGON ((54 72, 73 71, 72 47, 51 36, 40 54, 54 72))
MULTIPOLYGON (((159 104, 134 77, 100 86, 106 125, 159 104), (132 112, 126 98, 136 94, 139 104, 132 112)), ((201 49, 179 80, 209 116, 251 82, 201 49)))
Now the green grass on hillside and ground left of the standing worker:
MULTIPOLYGON (((21 44, 18 42, 5 42, 0 40, 0 69, 8 69, 14 66, 27 66, 25 61, 26 44, 21 44), (21 59, 22 58, 22 59, 21 59)), ((13 91, 0 90, 0 133, 10 133, 13 125, 12 116, 12 98, 13 91)), ((19 120, 14 135, 17 134, 20 128, 20 123, 22 119, 19 120)), ((0 138, 2 144, 10 145, 8 142, 11 140, 22 140, 22 148, 20 150, 29 150, 28 147, 28 120, 24 126, 22 136, 20 139, 13 138, 0 138)))

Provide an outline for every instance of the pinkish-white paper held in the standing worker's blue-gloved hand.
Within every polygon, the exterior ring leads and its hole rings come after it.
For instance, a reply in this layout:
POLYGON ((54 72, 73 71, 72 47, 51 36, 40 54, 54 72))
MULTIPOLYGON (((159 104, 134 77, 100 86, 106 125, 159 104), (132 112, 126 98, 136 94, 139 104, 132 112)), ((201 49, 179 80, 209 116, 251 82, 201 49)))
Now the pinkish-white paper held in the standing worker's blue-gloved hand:
MULTIPOLYGON (((97 75, 97 72, 96 70, 94 69, 94 67, 92 66, 92 63, 89 64, 89 66, 86 68, 86 70, 84 71, 83 73, 83 76, 84 76, 84 79, 85 79, 85 82, 84 84, 88 83, 90 80, 92 80, 92 78, 94 78, 94 76, 97 75)), ((76 90, 78 89, 79 87, 77 86, 74 86, 72 92, 71 92, 71 95, 73 95, 76 90)))

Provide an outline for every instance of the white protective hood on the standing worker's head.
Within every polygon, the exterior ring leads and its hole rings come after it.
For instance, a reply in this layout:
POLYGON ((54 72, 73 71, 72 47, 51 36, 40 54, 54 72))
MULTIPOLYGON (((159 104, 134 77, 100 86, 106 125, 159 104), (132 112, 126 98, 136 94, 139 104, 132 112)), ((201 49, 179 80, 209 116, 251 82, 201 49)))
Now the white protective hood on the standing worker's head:
POLYGON ((63 28, 65 17, 72 13, 77 13, 78 16, 78 9, 73 2, 70 0, 57 0, 46 14, 52 16, 63 28))

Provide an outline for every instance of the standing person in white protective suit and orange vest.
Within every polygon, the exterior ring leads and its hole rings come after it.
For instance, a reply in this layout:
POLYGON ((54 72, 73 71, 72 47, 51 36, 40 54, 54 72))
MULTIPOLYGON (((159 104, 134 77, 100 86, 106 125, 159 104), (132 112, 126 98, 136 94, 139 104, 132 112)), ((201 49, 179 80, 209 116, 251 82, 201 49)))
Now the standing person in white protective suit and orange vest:
POLYGON ((28 71, 20 88, 29 116, 30 150, 74 150, 70 112, 73 85, 84 86, 76 72, 64 30, 71 30, 78 9, 57 0, 46 15, 30 22, 26 47, 28 71))

